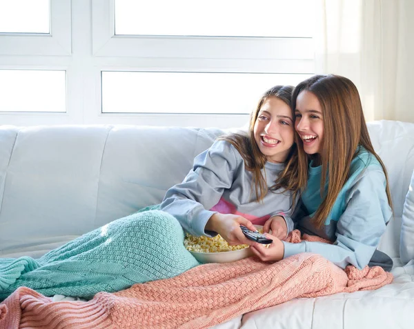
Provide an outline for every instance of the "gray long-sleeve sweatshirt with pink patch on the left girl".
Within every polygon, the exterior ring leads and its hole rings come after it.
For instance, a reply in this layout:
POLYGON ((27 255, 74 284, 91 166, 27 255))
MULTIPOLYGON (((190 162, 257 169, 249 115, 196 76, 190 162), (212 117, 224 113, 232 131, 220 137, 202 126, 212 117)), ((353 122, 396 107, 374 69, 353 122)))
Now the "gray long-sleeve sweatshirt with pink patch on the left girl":
MULTIPOLYGON (((266 162, 262 173, 269 188, 283 169, 283 163, 266 162)), ((186 232, 198 236, 216 234, 204 230, 216 212, 241 215, 258 225, 281 215, 293 228, 291 193, 269 190, 259 203, 252 181, 252 172, 246 170, 237 149, 227 141, 216 141, 195 157, 193 169, 184 181, 166 192, 161 210, 177 218, 186 232)))

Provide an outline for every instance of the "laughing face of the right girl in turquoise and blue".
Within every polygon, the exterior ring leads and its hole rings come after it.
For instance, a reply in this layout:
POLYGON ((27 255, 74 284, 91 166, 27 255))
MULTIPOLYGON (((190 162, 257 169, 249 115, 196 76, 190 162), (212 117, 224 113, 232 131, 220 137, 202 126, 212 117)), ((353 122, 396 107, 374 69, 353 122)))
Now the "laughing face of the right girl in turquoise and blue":
POLYGON ((295 128, 304 143, 304 151, 320 155, 324 141, 322 108, 315 94, 307 90, 297 95, 295 128))

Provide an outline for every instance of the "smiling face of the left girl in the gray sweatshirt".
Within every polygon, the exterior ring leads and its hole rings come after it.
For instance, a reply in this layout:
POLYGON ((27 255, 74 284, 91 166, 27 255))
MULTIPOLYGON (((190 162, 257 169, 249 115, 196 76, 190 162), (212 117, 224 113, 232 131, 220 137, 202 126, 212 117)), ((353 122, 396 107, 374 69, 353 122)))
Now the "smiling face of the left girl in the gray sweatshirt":
POLYGON ((292 110, 281 99, 269 97, 257 114, 253 132, 267 161, 283 163, 294 141, 292 110))

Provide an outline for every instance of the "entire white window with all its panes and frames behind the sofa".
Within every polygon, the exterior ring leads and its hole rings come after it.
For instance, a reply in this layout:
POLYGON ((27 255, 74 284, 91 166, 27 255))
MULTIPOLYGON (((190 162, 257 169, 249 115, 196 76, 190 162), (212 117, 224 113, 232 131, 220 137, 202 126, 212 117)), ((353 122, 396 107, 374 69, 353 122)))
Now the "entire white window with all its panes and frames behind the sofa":
POLYGON ((0 0, 0 121, 242 126, 315 72, 312 4, 0 0))

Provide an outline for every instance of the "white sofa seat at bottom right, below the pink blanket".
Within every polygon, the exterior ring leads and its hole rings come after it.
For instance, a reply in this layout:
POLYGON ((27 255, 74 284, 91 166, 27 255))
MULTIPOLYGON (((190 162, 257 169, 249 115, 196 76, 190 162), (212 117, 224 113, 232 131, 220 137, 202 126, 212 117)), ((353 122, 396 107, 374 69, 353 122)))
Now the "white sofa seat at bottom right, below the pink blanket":
POLYGON ((241 329, 413 328, 414 263, 377 290, 301 298, 243 316, 241 329))

